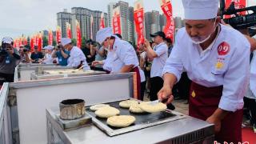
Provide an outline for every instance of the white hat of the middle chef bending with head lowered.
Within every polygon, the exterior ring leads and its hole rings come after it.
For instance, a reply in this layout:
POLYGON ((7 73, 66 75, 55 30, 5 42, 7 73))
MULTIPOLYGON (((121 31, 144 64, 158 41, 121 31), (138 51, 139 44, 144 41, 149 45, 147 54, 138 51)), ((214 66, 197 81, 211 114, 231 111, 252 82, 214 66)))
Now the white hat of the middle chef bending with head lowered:
POLYGON ((111 27, 106 27, 104 29, 98 30, 96 34, 96 42, 102 44, 106 38, 111 37, 113 29, 111 27))

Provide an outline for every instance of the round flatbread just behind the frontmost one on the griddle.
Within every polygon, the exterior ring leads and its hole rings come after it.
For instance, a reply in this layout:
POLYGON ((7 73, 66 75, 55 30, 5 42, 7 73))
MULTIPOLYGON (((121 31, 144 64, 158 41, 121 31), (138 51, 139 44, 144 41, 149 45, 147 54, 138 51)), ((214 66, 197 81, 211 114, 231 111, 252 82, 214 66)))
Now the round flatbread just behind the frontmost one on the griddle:
POLYGON ((120 111, 114 107, 106 106, 95 111, 95 114, 100 118, 110 118, 120 114, 120 111))

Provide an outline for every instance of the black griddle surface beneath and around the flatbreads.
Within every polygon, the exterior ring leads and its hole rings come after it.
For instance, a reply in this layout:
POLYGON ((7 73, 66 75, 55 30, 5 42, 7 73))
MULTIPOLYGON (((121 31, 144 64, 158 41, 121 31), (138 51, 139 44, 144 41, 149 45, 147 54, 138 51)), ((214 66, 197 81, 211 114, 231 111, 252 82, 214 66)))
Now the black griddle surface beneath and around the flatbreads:
MULTIPOLYGON (((162 111, 162 112, 158 112, 158 113, 145 113, 145 114, 134 114, 131 113, 129 111, 129 109, 124 109, 122 107, 119 106, 119 102, 110 102, 110 103, 106 103, 110 106, 113 106, 115 108, 117 108, 118 110, 120 110, 120 115, 132 115, 136 118, 136 121, 134 122, 133 125, 130 126, 135 126, 135 125, 141 125, 141 124, 147 124, 147 123, 152 123, 152 122, 158 122, 161 120, 165 120, 166 118, 172 118, 174 116, 176 116, 175 114, 171 114, 169 111, 162 111)), ((118 130, 118 129, 122 129, 122 128, 117 128, 117 127, 113 127, 113 126, 109 126, 106 123, 106 119, 107 118, 99 118, 94 114, 94 111, 90 110, 90 106, 86 107, 86 113, 89 113, 91 116, 93 116, 94 118, 97 118, 100 122, 102 122, 104 125, 110 127, 110 129, 112 130, 118 130)))

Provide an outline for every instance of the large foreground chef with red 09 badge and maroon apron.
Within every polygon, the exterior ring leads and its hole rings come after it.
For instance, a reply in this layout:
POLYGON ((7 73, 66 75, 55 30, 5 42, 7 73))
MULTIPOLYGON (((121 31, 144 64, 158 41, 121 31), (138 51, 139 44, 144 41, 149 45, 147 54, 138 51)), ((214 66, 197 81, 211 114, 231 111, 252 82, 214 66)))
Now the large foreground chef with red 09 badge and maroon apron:
POLYGON ((215 140, 242 142, 243 97, 249 82, 250 43, 219 24, 218 0, 182 0, 186 28, 178 30, 163 70, 159 99, 172 102, 171 89, 186 70, 192 81, 189 114, 214 123, 215 140))

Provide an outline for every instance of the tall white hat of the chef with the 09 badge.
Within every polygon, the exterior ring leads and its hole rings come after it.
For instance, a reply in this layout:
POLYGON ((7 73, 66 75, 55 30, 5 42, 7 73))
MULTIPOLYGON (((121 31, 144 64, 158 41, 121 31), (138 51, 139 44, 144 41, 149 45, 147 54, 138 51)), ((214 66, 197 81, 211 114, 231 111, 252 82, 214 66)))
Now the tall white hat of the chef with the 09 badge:
POLYGON ((182 0, 185 19, 204 20, 217 17, 219 0, 182 0))

